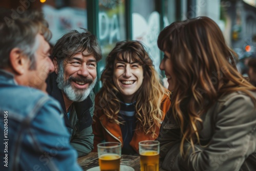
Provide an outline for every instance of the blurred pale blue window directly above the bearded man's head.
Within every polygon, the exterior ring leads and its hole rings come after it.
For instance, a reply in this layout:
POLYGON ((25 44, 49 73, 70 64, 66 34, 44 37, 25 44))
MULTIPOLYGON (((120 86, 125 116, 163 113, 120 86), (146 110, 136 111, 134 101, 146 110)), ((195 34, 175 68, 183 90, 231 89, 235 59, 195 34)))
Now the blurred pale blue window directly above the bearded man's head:
POLYGON ((87 28, 86 0, 55 0, 46 1, 42 4, 42 12, 49 22, 52 31, 51 44, 70 30, 82 31, 80 28, 87 28))

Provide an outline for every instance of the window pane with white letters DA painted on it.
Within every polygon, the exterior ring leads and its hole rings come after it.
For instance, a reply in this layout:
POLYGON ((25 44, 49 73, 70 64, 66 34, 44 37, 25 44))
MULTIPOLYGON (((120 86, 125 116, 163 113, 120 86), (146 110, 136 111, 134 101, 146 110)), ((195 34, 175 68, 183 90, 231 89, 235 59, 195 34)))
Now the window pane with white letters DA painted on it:
MULTIPOLYGON (((115 47, 116 42, 126 39, 125 1, 99 0, 99 36, 103 58, 98 63, 101 75, 105 67, 105 57, 115 47)), ((99 82, 101 87, 101 82, 99 82)))

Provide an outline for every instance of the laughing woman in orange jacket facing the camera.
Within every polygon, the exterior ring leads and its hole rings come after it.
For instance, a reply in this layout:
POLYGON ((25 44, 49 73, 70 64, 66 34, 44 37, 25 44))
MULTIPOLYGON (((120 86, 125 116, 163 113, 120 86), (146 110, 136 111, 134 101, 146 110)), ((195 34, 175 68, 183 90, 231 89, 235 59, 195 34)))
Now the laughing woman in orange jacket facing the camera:
POLYGON ((102 89, 95 98, 94 151, 103 140, 122 143, 122 154, 137 154, 138 142, 155 140, 169 109, 169 91, 139 41, 121 41, 106 58, 102 89))

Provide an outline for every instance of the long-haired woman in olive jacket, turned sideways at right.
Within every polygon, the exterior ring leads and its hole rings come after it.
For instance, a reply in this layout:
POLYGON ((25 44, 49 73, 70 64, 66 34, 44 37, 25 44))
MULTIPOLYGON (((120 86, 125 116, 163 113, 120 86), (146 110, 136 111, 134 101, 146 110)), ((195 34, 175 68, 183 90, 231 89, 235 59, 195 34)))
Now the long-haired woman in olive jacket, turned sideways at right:
POLYGON ((255 170, 256 89, 237 71, 217 23, 174 22, 158 47, 173 91, 158 137, 162 168, 255 170))

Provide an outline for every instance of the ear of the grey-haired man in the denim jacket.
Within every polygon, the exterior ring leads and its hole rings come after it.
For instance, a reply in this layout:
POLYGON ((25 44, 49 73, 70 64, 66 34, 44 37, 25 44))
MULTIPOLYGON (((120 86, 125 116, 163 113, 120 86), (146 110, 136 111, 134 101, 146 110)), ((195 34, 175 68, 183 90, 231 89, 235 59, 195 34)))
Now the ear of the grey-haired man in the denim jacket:
POLYGON ((19 48, 13 48, 10 52, 11 68, 18 74, 22 75, 28 70, 29 65, 28 57, 22 54, 19 48))

